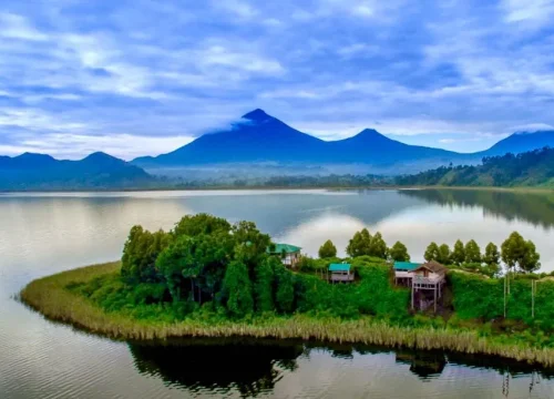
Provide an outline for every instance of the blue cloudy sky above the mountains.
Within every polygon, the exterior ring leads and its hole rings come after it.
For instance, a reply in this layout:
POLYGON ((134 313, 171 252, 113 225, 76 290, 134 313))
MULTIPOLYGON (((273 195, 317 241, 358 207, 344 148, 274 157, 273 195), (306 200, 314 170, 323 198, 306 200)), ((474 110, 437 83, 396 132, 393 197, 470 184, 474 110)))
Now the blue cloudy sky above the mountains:
POLYGON ((3 0, 0 154, 174 150, 261 108, 482 150, 554 125, 554 1, 3 0))

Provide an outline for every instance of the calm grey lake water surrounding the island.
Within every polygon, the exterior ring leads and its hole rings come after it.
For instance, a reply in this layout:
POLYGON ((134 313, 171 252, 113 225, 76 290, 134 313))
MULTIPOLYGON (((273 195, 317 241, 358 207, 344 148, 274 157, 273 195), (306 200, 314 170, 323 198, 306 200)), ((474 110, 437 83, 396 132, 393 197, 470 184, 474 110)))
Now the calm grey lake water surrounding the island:
POLYGON ((554 195, 480 191, 0 195, 0 398, 554 398, 553 374, 505 360, 301 342, 116 342, 12 299, 31 279, 120 257, 134 224, 252 219, 316 254, 368 227, 420 260, 431 241, 501 244, 514 229, 554 270, 554 195))

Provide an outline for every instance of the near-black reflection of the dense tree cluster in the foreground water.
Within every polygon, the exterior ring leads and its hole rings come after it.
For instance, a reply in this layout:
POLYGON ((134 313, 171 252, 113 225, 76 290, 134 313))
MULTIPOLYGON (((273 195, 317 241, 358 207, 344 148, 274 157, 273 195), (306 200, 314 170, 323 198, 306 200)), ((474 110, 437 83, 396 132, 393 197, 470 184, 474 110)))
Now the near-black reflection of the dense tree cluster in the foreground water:
POLYGON ((236 389, 255 397, 271 391, 285 371, 295 371, 305 351, 299 344, 194 340, 153 346, 130 344, 136 369, 191 392, 236 389))

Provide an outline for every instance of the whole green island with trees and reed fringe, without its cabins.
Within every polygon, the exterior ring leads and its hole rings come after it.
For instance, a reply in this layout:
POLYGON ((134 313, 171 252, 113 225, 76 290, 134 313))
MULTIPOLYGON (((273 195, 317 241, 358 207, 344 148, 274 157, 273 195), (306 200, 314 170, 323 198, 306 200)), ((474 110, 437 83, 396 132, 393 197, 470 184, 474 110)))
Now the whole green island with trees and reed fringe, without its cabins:
MULTIPOLYGON (((517 237, 512 238, 514 253, 521 250, 517 237)), ((444 246, 437 252, 434 246, 425 257, 437 260, 444 246)), ((301 338, 554 365, 554 283, 516 273, 530 266, 532 253, 513 265, 506 295, 506 279, 485 266, 494 248, 488 246, 482 256, 482 270, 475 263, 452 267, 434 313, 433 307, 411 309, 411 288, 394 284, 394 268, 384 259, 406 264, 406 247, 396 243, 388 248, 378 233, 357 233, 348 259, 337 259, 330 242, 318 259, 287 256, 288 246, 281 254, 275 248, 253 223, 232 226, 204 214, 184 217, 168 233, 135 226, 121 262, 37 279, 21 299, 50 319, 116 339, 301 338), (329 270, 348 270, 353 282, 330 284, 329 270)), ((473 244, 465 249, 476 256, 473 244)), ((504 256, 510 245, 502 250, 504 256)), ((454 253, 460 256, 460 247, 451 253, 452 262, 454 253)), ((492 260, 499 256, 496 250, 492 260)))

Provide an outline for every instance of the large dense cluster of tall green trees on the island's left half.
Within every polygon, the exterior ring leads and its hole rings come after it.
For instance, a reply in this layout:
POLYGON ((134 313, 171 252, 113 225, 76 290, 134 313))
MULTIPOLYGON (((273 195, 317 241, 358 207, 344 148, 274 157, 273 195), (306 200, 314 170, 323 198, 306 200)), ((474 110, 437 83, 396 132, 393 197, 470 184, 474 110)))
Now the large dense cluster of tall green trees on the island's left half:
POLYGON ((131 229, 122 257, 127 284, 163 286, 174 303, 215 303, 242 317, 291 311, 294 276, 270 257, 271 242, 254 223, 185 216, 168 233, 131 229))

